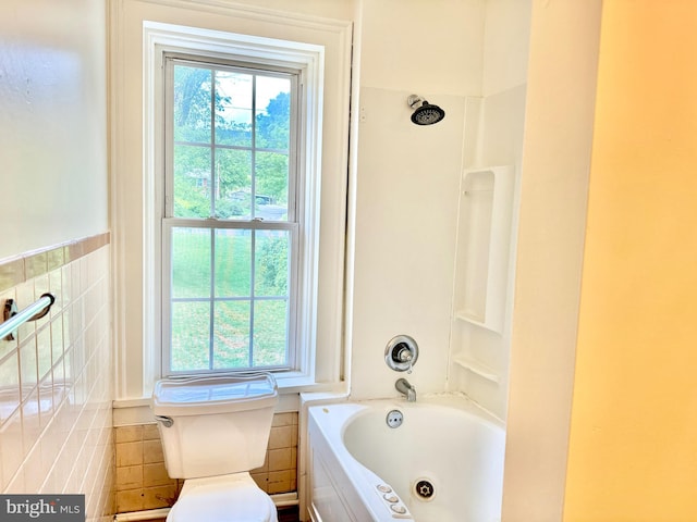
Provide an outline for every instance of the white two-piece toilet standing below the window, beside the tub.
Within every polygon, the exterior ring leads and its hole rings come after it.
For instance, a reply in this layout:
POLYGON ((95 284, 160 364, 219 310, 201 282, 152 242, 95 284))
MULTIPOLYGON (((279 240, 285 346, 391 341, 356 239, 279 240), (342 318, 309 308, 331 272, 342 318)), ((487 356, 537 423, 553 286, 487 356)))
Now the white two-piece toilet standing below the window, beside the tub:
POLYGON ((185 480, 168 522, 278 522, 273 500, 249 475, 264 464, 277 402, 266 373, 156 383, 164 464, 185 480))

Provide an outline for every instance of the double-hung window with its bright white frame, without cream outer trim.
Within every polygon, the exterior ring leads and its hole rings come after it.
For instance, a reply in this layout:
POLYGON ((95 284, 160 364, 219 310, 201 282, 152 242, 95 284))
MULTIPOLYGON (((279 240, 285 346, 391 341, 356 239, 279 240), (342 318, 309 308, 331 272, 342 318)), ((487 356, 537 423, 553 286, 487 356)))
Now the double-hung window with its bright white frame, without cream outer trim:
POLYGON ((158 373, 262 369, 311 383, 322 48, 163 24, 146 40, 158 373))

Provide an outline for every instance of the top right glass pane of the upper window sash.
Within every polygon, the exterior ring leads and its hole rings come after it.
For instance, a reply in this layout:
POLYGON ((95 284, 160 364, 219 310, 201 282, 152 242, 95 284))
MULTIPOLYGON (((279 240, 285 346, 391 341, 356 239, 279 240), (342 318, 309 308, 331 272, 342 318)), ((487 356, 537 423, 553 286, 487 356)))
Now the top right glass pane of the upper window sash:
POLYGON ((257 76, 257 148, 288 150, 291 136, 291 82, 257 76))

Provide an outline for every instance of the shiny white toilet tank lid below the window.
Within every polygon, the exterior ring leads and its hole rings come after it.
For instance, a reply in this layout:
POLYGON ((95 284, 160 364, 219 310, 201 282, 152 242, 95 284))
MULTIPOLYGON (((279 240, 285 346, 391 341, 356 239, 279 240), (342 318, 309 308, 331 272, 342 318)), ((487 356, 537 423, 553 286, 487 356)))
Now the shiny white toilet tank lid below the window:
POLYGON ((156 415, 225 413, 274 406, 278 386, 270 373, 169 377, 155 383, 156 415))

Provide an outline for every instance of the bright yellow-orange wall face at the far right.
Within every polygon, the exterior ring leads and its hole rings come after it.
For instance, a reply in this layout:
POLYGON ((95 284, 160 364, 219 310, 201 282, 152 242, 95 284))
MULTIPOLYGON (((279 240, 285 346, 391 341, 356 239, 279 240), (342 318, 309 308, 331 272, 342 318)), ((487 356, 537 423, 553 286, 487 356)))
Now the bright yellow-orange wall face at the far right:
POLYGON ((693 521, 697 4, 603 4, 564 521, 693 521))

